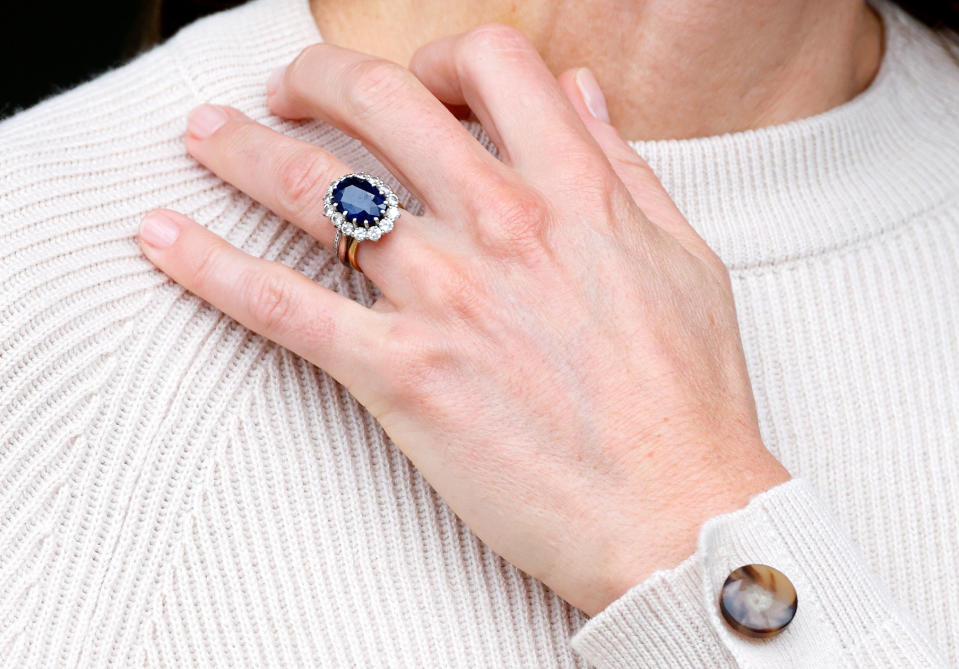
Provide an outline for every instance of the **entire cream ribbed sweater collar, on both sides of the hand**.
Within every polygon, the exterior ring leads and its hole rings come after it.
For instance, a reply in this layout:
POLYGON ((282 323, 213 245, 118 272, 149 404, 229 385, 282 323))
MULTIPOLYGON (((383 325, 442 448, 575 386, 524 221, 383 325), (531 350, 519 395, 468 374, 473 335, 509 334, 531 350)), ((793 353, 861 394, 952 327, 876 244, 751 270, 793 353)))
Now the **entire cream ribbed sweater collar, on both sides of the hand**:
MULTIPOLYGON (((869 87, 849 102, 757 130, 630 142, 731 270, 866 243, 954 191, 951 110, 959 106, 959 65, 934 33, 898 6, 888 0, 875 6, 884 25, 883 60, 869 87)), ((174 39, 200 100, 238 106, 323 142, 350 164, 369 165, 359 143, 345 135, 331 137, 320 123, 294 129, 266 109, 269 72, 321 41, 308 0, 254 0, 194 26, 174 39), (200 29, 208 21, 223 40, 200 29)))

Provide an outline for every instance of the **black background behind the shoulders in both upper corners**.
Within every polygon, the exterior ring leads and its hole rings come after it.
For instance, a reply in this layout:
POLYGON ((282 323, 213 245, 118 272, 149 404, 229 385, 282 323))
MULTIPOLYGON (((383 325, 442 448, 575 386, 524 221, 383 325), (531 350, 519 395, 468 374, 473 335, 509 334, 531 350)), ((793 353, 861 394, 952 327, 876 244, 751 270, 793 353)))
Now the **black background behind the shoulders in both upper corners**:
MULTIPOLYGON (((242 1, 0 0, 0 118, 129 60, 199 16, 242 1)), ((959 0, 899 4, 931 25, 959 28, 959 0)))

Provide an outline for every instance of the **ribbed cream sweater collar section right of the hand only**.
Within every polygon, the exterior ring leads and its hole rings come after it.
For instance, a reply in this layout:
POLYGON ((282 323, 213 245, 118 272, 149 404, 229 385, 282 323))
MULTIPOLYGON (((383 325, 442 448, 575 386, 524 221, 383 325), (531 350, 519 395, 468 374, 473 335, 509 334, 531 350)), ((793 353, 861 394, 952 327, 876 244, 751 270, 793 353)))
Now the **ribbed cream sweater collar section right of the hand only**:
POLYGON ((959 101, 938 87, 957 64, 898 6, 875 6, 883 60, 852 100, 757 130, 630 142, 731 270, 868 243, 954 192, 959 101))

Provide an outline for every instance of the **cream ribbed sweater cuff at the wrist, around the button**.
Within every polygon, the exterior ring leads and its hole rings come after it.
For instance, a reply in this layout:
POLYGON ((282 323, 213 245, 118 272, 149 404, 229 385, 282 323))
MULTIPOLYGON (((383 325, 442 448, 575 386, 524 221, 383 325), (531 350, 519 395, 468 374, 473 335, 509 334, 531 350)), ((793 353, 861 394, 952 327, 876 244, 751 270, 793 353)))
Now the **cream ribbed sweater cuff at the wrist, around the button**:
POLYGON ((839 666, 860 653, 945 666, 801 478, 707 520, 696 553, 633 587, 571 643, 597 667, 839 666), (798 596, 792 623, 770 639, 736 634, 719 612, 726 577, 752 563, 786 574, 798 596))

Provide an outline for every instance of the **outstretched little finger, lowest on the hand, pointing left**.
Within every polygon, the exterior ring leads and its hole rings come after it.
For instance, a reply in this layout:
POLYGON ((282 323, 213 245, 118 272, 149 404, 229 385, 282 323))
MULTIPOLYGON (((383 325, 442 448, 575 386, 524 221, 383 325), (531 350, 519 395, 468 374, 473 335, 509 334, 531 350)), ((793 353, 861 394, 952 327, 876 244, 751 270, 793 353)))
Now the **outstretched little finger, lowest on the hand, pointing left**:
POLYGON ((182 214, 148 213, 138 241, 171 279, 351 390, 383 341, 383 314, 285 265, 254 258, 182 214))

